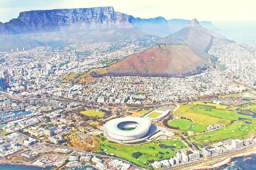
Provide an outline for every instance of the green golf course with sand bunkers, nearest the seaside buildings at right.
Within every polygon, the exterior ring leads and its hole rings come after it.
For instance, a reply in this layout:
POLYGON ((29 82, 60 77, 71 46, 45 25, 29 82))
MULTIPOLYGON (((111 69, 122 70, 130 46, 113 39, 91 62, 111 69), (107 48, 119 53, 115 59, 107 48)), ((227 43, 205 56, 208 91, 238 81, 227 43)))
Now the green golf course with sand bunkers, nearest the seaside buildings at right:
POLYGON ((250 136, 254 130, 256 130, 256 119, 252 118, 251 120, 234 121, 233 124, 228 125, 226 128, 194 136, 190 139, 192 142, 196 141, 199 145, 202 145, 204 143, 211 143, 230 138, 245 138, 250 136))

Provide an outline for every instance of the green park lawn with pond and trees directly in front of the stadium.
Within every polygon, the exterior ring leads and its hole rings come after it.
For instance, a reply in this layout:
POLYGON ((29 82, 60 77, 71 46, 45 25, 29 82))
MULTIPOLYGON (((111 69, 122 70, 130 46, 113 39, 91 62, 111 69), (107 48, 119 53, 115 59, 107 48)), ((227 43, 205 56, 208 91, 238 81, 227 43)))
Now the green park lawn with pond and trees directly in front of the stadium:
POLYGON ((106 152, 109 154, 118 155, 121 158, 127 159, 137 165, 140 165, 144 168, 149 168, 144 164, 148 164, 148 160, 160 160, 160 156, 162 159, 169 159, 175 155, 178 149, 185 148, 185 144, 181 141, 161 141, 161 143, 168 146, 176 146, 175 149, 170 148, 161 148, 159 146, 160 143, 147 143, 143 145, 121 145, 118 143, 113 143, 108 141, 107 139, 102 141, 100 140, 100 147, 98 149, 99 152, 106 152), (141 152, 143 155, 138 159, 133 158, 132 153, 141 152), (160 154, 159 152, 163 153, 160 154), (169 152, 169 153, 166 153, 169 152))

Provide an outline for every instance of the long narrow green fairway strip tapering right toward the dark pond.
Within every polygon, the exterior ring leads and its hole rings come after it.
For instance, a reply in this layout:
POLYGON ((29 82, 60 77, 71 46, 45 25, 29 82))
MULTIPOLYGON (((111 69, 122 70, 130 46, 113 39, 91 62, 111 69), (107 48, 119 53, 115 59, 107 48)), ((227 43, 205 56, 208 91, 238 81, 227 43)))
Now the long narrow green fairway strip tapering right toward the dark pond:
POLYGON ((206 109, 200 107, 192 107, 188 112, 199 113, 204 115, 209 115, 211 117, 228 119, 228 120, 238 120, 238 118, 251 118, 251 116, 241 115, 234 111, 223 111, 218 109, 206 109))

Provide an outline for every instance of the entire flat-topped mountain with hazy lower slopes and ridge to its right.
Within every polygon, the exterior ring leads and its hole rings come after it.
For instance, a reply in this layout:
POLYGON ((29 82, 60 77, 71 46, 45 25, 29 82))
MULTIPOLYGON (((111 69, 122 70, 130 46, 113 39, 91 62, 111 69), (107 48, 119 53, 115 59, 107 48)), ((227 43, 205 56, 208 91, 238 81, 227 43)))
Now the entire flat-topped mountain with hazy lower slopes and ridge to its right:
POLYGON ((170 35, 174 28, 182 27, 163 17, 134 18, 111 6, 25 11, 18 18, 0 23, 0 50, 93 41, 144 41, 170 35))

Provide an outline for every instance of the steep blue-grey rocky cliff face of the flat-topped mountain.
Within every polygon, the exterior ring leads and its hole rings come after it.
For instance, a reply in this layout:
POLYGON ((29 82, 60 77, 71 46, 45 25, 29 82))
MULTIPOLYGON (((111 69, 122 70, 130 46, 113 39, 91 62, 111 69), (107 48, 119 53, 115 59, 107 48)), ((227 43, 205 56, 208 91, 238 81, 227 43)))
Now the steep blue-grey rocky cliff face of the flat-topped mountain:
POLYGON ((113 7, 38 10, 21 12, 18 18, 5 23, 13 34, 55 31, 62 27, 132 28, 130 16, 115 12, 113 7))

